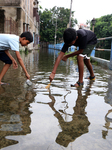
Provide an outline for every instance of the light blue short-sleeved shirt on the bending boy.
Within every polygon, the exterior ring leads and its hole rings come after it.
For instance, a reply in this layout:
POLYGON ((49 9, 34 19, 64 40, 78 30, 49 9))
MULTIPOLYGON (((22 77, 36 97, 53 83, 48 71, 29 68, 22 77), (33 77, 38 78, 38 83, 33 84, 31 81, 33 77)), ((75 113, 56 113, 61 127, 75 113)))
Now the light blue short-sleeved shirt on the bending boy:
POLYGON ((19 36, 14 34, 0 34, 0 51, 19 51, 19 36))

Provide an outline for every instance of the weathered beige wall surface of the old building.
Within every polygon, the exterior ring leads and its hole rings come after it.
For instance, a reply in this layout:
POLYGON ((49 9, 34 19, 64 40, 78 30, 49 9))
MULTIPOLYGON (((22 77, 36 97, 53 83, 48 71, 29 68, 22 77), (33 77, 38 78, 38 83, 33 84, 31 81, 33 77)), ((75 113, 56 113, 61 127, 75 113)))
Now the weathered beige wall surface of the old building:
MULTIPOLYGON (((33 14, 34 1, 37 2, 38 0, 0 0, 0 32, 6 32, 6 27, 3 27, 3 25, 7 25, 4 23, 5 16, 5 19, 9 20, 9 18, 11 18, 15 21, 17 24, 16 27, 18 35, 24 31, 30 31, 32 34, 38 36, 38 22, 37 19, 34 19, 35 16, 33 14)), ((10 33, 12 32, 13 30, 10 29, 10 33)), ((34 41, 35 40, 36 39, 34 39, 34 41)), ((37 43, 37 45, 38 44, 39 43, 37 43)), ((34 45, 33 42, 28 45, 28 48, 32 49, 34 46, 36 45, 34 45)))

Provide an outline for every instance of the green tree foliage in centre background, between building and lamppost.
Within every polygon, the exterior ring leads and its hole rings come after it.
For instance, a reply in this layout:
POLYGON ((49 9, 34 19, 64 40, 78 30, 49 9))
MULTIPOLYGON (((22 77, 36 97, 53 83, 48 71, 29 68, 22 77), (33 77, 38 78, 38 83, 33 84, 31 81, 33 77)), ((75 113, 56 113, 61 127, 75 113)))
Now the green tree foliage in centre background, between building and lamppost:
MULTIPOLYGON (((40 41, 51 42, 54 41, 55 31, 56 39, 59 41, 63 37, 63 32, 69 23, 70 9, 64 7, 53 7, 40 14, 40 41)), ((77 20, 73 18, 74 11, 72 11, 71 26, 73 27, 77 20)))

